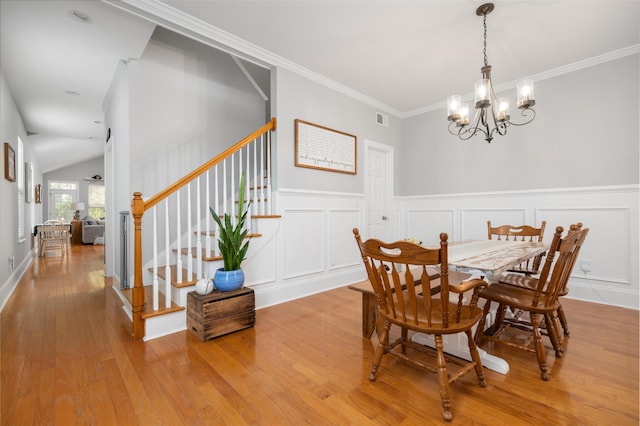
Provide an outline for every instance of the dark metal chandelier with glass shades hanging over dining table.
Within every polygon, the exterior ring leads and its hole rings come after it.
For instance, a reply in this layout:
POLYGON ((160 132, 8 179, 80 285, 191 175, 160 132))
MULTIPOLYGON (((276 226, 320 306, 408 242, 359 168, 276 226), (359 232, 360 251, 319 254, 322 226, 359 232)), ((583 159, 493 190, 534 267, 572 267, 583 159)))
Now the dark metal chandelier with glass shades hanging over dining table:
POLYGON ((536 111, 531 108, 536 104, 533 93, 533 80, 523 80, 517 84, 518 108, 520 115, 525 117, 523 123, 514 123, 509 115, 509 100, 507 98, 496 99, 491 81, 491 65, 487 60, 487 15, 493 11, 493 3, 486 3, 476 9, 476 15, 482 16, 484 24, 484 66, 480 69, 482 79, 474 86, 475 115, 469 125, 469 106, 461 102, 459 95, 447 98, 447 119, 449 133, 457 135, 462 140, 467 140, 478 133, 484 135, 485 140, 491 143, 494 133, 501 136, 507 134, 507 128, 524 126, 531 123, 536 117, 536 111), (531 112, 531 114, 529 113, 531 112))

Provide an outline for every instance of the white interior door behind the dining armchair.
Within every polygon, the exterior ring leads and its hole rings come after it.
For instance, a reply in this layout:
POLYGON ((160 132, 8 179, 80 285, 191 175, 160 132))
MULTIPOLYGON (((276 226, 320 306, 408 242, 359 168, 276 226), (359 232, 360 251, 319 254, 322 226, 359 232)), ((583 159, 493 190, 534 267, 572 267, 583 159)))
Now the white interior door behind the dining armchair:
POLYGON ((393 199, 393 148, 365 140, 365 238, 390 241, 393 199))

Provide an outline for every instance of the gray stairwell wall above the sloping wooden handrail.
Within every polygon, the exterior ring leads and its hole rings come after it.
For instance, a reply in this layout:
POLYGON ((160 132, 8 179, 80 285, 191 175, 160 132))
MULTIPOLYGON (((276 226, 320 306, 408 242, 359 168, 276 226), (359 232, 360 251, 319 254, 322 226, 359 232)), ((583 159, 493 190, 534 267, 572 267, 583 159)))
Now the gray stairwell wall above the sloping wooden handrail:
POLYGON ((156 29, 128 73, 130 192, 154 195, 267 121, 228 54, 168 30, 156 29))

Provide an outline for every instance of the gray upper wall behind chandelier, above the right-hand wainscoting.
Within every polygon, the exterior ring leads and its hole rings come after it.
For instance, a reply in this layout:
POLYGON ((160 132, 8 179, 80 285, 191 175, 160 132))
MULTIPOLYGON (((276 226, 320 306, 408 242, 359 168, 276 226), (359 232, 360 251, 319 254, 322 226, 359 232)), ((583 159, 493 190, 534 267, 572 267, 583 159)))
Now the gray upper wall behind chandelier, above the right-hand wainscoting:
POLYGON ((536 119, 491 144, 450 135, 445 110, 406 119, 396 195, 638 184, 639 63, 536 82, 536 119))

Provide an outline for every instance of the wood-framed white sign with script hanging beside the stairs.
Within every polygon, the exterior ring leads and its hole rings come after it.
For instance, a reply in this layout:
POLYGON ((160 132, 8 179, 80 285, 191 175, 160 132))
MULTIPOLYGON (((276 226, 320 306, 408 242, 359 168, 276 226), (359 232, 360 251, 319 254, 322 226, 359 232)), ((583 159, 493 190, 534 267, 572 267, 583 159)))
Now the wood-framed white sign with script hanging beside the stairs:
POLYGON ((357 173, 357 137, 303 120, 295 120, 296 166, 357 173))

